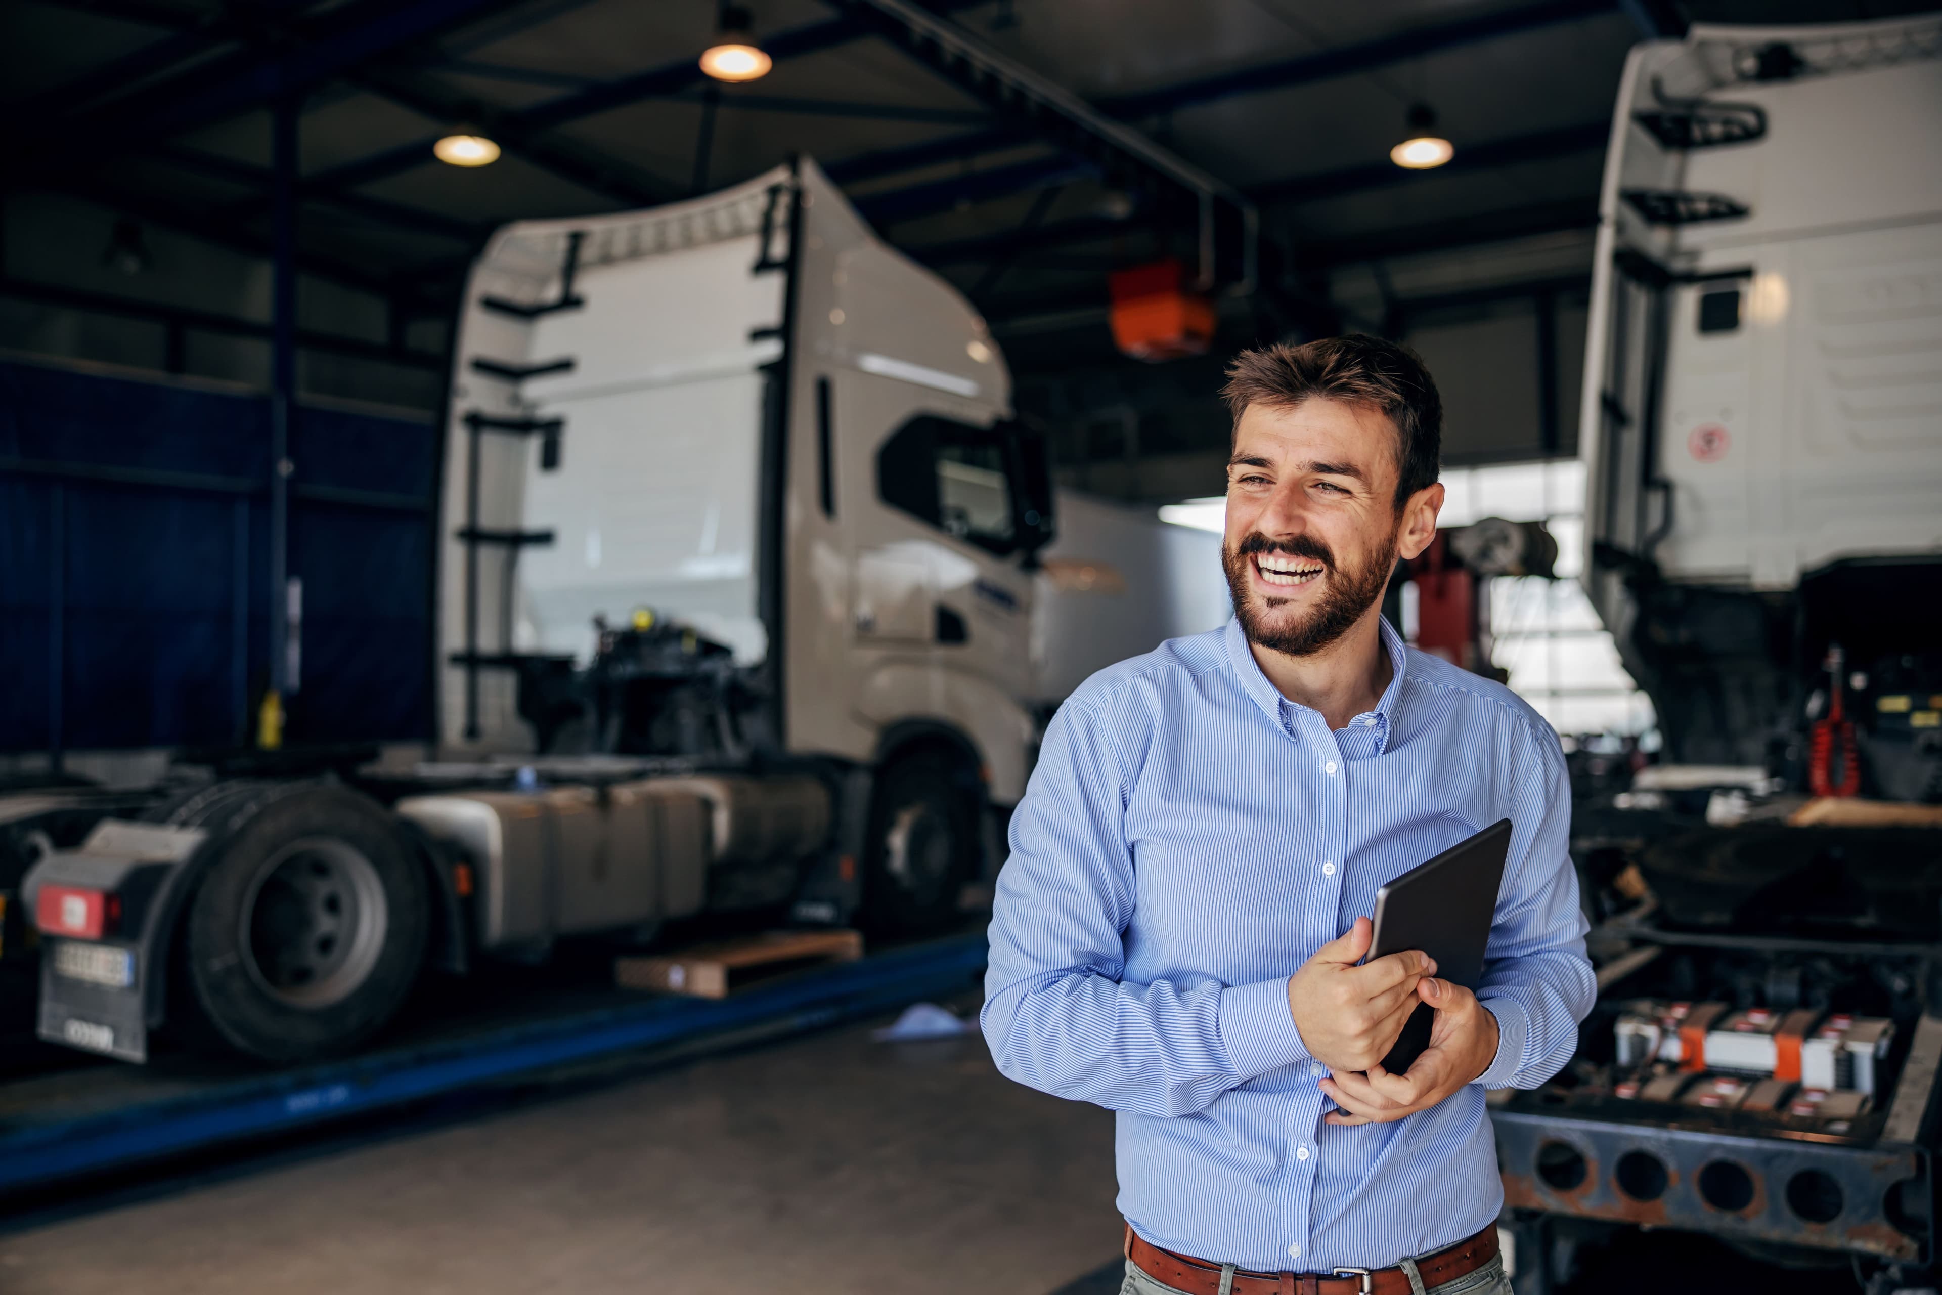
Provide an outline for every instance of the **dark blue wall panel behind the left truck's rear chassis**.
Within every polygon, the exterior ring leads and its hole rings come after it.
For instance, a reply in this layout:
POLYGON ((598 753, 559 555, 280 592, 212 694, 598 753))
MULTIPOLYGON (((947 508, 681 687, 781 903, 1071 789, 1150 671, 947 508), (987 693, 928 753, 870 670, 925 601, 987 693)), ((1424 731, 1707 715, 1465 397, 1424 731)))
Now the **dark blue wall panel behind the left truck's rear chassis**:
MULTIPOLYGON (((0 749, 249 736, 270 650, 268 429, 260 394, 0 363, 0 749)), ((425 738, 437 431, 305 406, 291 460, 287 740, 425 738)))

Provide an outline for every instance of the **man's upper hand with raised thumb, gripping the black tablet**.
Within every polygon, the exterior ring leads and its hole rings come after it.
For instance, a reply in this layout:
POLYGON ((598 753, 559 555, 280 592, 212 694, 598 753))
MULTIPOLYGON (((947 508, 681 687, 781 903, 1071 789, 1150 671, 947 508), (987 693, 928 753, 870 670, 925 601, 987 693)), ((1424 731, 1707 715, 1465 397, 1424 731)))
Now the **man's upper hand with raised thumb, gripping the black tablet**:
POLYGON ((1437 969, 1414 949, 1357 967, 1373 938, 1375 922, 1359 916, 1288 980, 1288 1010, 1301 1041, 1336 1074, 1383 1060, 1420 1002, 1416 986, 1437 969))

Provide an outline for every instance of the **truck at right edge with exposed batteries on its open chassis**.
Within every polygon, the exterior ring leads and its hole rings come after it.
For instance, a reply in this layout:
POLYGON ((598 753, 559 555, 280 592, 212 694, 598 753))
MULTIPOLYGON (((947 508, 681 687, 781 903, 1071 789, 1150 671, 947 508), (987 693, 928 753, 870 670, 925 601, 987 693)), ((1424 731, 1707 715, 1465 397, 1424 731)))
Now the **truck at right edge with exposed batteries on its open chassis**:
POLYGON ((1625 1227, 1936 1283, 1938 124, 1932 14, 1627 58, 1583 579, 1662 753, 1573 757, 1600 998, 1491 1095, 1521 1291, 1625 1227))

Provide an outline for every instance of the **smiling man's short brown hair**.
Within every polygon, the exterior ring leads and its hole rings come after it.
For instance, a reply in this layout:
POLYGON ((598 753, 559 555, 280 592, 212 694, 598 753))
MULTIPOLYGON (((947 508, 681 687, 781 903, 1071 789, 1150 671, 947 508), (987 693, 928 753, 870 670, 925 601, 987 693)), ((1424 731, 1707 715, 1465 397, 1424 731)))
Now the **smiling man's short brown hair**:
POLYGON ((1291 410, 1324 396, 1381 410, 1396 425, 1396 509, 1437 481, 1443 454, 1443 398, 1422 355, 1385 338, 1352 332, 1301 346, 1276 342, 1241 351, 1222 388, 1235 425, 1251 404, 1291 410))

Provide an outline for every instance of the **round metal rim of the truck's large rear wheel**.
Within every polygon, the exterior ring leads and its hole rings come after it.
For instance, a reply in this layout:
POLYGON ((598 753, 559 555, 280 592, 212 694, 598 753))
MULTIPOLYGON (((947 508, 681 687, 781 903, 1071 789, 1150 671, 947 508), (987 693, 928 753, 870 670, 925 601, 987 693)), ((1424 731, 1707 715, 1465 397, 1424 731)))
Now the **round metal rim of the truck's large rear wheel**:
POLYGON ((385 883, 363 850, 330 837, 291 841, 243 897, 243 963, 278 1002, 328 1008, 371 975, 386 918, 385 883))

